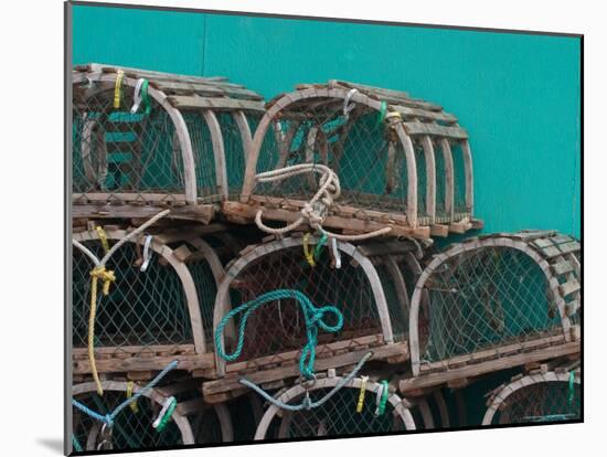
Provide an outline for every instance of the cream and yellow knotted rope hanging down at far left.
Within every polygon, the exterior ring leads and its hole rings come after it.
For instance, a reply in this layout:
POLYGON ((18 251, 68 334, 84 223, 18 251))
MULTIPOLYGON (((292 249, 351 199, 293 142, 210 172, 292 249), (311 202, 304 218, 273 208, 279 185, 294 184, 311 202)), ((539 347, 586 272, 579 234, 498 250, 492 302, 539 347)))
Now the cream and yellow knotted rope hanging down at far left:
POLYGON ((170 210, 161 211, 160 213, 152 216, 149 221, 141 224, 139 227, 135 228, 128 235, 119 240, 118 243, 111 246, 111 248, 104 255, 104 257, 100 261, 85 245, 77 242, 76 240, 72 240, 72 244, 76 246, 78 249, 81 249, 95 264, 95 267, 90 272, 90 312, 88 316, 87 352, 88 352, 88 362, 90 364, 90 373, 93 374, 93 380, 95 381, 95 385, 97 386, 97 393, 99 395, 104 394, 104 389, 102 386, 99 374, 97 372, 97 364, 95 363, 95 317, 97 313, 97 281, 98 280, 103 281, 102 291, 104 296, 107 296, 109 294, 109 286, 111 285, 111 283, 116 281, 116 275, 114 274, 114 272, 108 270, 106 268, 107 262, 111 258, 114 253, 116 253, 116 251, 118 251, 118 248, 120 248, 120 246, 123 246, 126 242, 128 242, 129 240, 134 238, 135 236, 143 232, 147 227, 152 225, 159 219, 164 217, 170 212, 171 212, 170 210))

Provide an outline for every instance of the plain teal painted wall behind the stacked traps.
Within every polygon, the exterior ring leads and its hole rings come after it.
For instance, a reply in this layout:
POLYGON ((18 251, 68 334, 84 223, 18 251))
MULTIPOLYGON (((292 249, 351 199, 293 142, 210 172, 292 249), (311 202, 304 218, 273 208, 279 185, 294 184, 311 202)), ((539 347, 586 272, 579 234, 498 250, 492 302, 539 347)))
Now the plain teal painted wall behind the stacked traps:
POLYGON ((223 75, 267 98, 343 78, 444 106, 470 134, 486 232, 581 235, 579 40, 74 7, 74 63, 223 75))

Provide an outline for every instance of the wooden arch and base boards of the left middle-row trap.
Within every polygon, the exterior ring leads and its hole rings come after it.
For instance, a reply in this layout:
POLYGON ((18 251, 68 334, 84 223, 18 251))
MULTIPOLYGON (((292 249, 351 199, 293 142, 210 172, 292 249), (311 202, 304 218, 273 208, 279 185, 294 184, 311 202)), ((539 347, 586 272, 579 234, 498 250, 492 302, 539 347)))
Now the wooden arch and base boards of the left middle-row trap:
MULTIPOLYGON (((189 316, 189 326, 191 327, 192 341, 182 343, 171 342, 169 344, 152 344, 152 346, 109 346, 102 347, 96 346, 95 353, 97 355, 96 364, 99 373, 110 372, 132 372, 132 371, 156 371, 162 370, 172 360, 179 360, 180 370, 205 370, 213 366, 213 354, 207 347, 209 340, 212 338, 212 309, 202 309, 199 296, 203 293, 200 287, 204 284, 199 280, 194 280, 193 272, 196 265, 203 267, 202 272, 206 272, 210 277, 206 281, 213 284, 216 287, 220 279, 223 277, 223 266, 215 253, 215 251, 204 242, 200 235, 195 232, 185 231, 156 231, 150 228, 148 233, 153 235, 150 249, 153 251, 153 255, 159 257, 159 262, 167 267, 172 268, 175 275, 179 277, 181 288, 185 301, 183 306, 189 316)), ((126 236, 125 230, 107 230, 106 236, 108 240, 120 240, 126 236)), ((97 231, 84 231, 74 233, 74 240, 86 244, 87 242, 100 243, 97 231)), ((129 241, 120 249, 131 246, 136 249, 141 249, 145 243, 145 237, 140 236, 136 240, 129 241)), ((74 249, 78 249, 76 246, 74 249)), ((116 255, 120 254, 120 249, 116 255)), ((84 254, 83 254, 84 255, 84 254)), ((90 269, 93 268, 90 262, 90 269)), ((111 269, 111 259, 109 261, 108 268, 111 269)), ((138 269, 138 266, 132 266, 134 270, 138 269)), ((83 273, 84 274, 84 273, 83 273)), ((118 275, 120 273, 118 272, 118 275)), ((145 273, 141 273, 145 275, 145 273)), ((84 278, 84 281, 88 281, 88 278, 84 278)), ((119 280, 119 278, 118 278, 119 280)), ((119 287, 117 284, 110 286, 111 289, 119 287)), ((212 290, 214 294, 215 290, 212 290)), ((100 291, 99 291, 100 294, 100 291)), ((85 297, 89 300, 89 297, 85 297)), ((104 298, 100 298, 99 309, 104 306, 104 298)), ((88 301, 84 308, 86 317, 88 319, 88 301)), ((115 318, 113 318, 115 319, 115 318)), ((87 359, 87 350, 84 348, 73 348, 74 360, 74 373, 86 374, 90 373, 90 366, 87 359)))

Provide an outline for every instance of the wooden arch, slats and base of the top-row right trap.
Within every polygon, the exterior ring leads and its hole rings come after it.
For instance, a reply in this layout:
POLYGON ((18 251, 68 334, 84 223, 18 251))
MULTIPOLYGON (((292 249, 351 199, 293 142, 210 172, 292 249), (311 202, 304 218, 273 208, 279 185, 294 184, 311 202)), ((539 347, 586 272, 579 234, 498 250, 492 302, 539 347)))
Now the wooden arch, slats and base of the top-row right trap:
MULTIPOLYGON (((391 226, 391 235, 412 235, 417 237, 429 237, 433 235, 446 236, 449 232, 464 233, 470 228, 482 226, 480 221, 472 219, 473 212, 473 178, 472 178, 472 157, 467 132, 458 126, 457 118, 443 111, 439 106, 411 98, 406 93, 388 91, 379 87, 364 86, 361 84, 347 83, 341 81, 331 81, 324 85, 300 85, 298 89, 288 94, 283 94, 268 103, 268 109, 262 118, 253 139, 251 153, 248 156, 245 179, 243 183, 242 196, 238 202, 224 203, 224 212, 237 219, 251 220, 259 208, 265 209, 267 219, 276 221, 292 222, 298 211, 302 208, 306 195, 286 198, 276 196, 265 191, 256 191, 255 174, 259 171, 268 171, 265 162, 269 157, 263 157, 262 150, 266 138, 274 136, 270 132, 273 126, 280 121, 291 121, 291 126, 286 132, 276 134, 274 140, 277 145, 276 150, 266 150, 266 156, 277 157, 274 169, 279 169, 288 163, 291 141, 298 135, 298 129, 311 118, 312 110, 323 105, 342 106, 348 99, 353 104, 354 109, 345 120, 342 128, 343 138, 336 141, 333 155, 341 162, 344 151, 344 141, 348 132, 355 125, 360 111, 377 113, 382 109, 382 103, 387 104, 388 114, 397 114, 398 117, 388 116, 386 118, 390 128, 393 130, 394 140, 391 140, 393 148, 388 148, 385 174, 381 179, 387 185, 390 173, 394 169, 394 160, 404 160, 406 163, 406 201, 394 209, 380 209, 377 204, 369 203, 366 205, 356 203, 352 206, 334 202, 334 208, 330 209, 330 214, 324 221, 324 226, 341 228, 355 232, 369 232, 385 226, 391 226), (356 89, 355 93, 350 93, 356 89), (350 96, 349 96, 350 93, 350 96), (461 149, 461 157, 457 157, 458 162, 462 162, 464 182, 460 183, 454 171, 454 148, 461 149), (416 148, 423 153, 426 163, 423 171, 423 181, 419 181, 416 164, 416 148), (440 162, 443 168, 437 169, 437 149, 441 150, 440 162), (403 157, 401 158, 401 153, 403 157), (263 162, 262 162, 263 160, 263 162), (263 163, 263 164, 260 164, 263 163), (392 164, 391 164, 392 163, 392 164), (440 200, 444 203, 441 214, 437 214, 437 173, 439 173, 440 183, 444 188, 440 200), (419 198, 418 182, 425 182, 422 189, 423 195, 419 198), (444 184, 443 184, 444 183, 444 184), (456 192, 457 188, 462 188, 462 192, 456 192), (459 195, 457 193, 462 193, 459 195), (459 202, 457 199, 461 198, 459 202), (419 211, 423 202, 424 211, 419 211), (406 214, 406 215, 405 215, 406 214)), ((340 127, 341 128, 341 127, 340 127)), ((308 148, 315 148, 317 142, 321 149, 321 160, 328 164, 328 139, 326 135, 320 135, 322 129, 315 128, 306 139, 308 148), (323 141, 319 139, 324 138, 323 141)), ((332 134, 331 134, 332 135, 332 134)), ((341 134, 340 134, 341 135, 341 134)), ((305 162, 316 160, 313 153, 307 153, 305 162)), ((301 161, 303 162, 303 161, 301 161)), ((336 170, 338 176, 339 170, 336 170)), ((343 188, 343 184, 342 184, 343 188)), ((390 192, 388 192, 390 193, 390 192)), ((370 194, 373 198, 379 194, 370 194)), ((311 194, 309 195, 311 196, 311 194)), ((361 202, 364 195, 359 195, 361 202)), ((396 204, 392 202, 391 204, 396 204)))

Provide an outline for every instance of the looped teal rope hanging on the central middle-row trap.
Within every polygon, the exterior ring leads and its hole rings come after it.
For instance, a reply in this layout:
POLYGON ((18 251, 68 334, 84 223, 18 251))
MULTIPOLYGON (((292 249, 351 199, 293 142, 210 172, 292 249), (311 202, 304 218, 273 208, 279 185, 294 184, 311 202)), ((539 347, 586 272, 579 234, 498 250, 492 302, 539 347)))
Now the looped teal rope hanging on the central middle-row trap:
POLYGON ((244 346, 244 339, 245 339, 244 333, 245 333, 246 322, 251 313, 255 311, 257 308, 259 308, 262 305, 265 305, 270 301, 289 299, 289 298, 295 299, 301 306, 301 310, 303 312, 303 318, 306 322, 306 337, 308 338, 308 342, 306 343, 306 346, 303 346, 303 348, 301 348, 301 355, 299 357, 299 371, 301 372, 302 376, 307 379, 312 379, 315 376, 313 366, 315 366, 315 360, 316 360, 318 328, 320 327, 322 330, 328 331, 330 333, 334 333, 341 330, 343 326, 343 315, 334 306, 323 306, 320 308, 315 307, 310 301, 310 299, 299 290, 294 290, 294 289, 273 290, 267 294, 263 294, 257 298, 238 306, 237 308, 234 308, 232 311, 225 315, 215 330, 215 348, 217 350, 217 354, 227 362, 233 362, 236 359, 238 359, 241 357, 241 353, 243 352, 243 346, 244 346), (224 348, 222 347, 223 329, 225 328, 230 319, 234 318, 236 315, 241 312, 244 312, 244 315, 238 325, 238 342, 236 344, 236 350, 233 353, 228 354, 224 351, 224 348), (332 312, 337 317, 338 321, 334 326, 329 326, 327 322, 322 320, 324 315, 328 312, 332 312))

